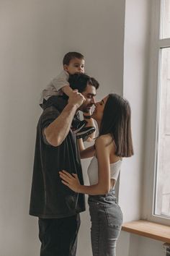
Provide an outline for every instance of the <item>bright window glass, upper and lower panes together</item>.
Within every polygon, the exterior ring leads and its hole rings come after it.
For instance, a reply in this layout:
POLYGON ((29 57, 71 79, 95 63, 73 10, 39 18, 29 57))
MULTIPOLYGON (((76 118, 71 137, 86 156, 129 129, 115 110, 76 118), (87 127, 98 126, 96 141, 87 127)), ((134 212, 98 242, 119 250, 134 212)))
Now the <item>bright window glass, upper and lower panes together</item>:
POLYGON ((170 1, 160 4, 154 214, 170 217, 170 1))

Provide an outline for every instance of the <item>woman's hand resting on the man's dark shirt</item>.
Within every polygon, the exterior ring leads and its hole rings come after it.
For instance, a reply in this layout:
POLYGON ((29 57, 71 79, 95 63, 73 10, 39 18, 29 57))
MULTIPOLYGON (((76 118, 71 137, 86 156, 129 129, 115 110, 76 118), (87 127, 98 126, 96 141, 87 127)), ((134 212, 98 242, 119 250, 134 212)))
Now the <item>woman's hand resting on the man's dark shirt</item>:
POLYGON ((74 192, 80 192, 80 182, 77 174, 69 174, 67 171, 59 171, 60 177, 62 179, 62 183, 69 187, 74 192))

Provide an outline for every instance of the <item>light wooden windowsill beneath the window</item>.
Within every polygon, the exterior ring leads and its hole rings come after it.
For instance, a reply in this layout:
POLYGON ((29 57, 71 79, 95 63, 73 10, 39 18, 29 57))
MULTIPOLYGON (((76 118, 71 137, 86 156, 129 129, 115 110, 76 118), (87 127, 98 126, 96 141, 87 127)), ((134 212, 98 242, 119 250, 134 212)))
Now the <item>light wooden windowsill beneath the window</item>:
POLYGON ((124 223, 122 230, 170 244, 170 226, 139 220, 124 223))

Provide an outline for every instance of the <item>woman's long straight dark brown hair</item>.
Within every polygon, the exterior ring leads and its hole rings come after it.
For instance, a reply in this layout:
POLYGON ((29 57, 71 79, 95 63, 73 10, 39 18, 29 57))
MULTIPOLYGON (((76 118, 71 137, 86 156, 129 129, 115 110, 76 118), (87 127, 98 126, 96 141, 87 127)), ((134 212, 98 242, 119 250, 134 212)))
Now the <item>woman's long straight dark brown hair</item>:
POLYGON ((115 93, 110 93, 105 103, 99 135, 107 133, 110 133, 115 141, 115 155, 133 155, 130 104, 115 93))

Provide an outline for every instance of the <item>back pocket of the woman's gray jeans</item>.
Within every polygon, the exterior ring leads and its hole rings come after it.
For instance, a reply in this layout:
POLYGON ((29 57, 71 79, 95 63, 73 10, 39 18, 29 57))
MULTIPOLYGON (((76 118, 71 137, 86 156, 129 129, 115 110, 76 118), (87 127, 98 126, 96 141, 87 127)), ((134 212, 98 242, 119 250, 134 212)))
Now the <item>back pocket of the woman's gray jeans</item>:
POLYGON ((115 229, 121 229, 122 226, 122 210, 117 204, 104 206, 107 223, 115 229))

